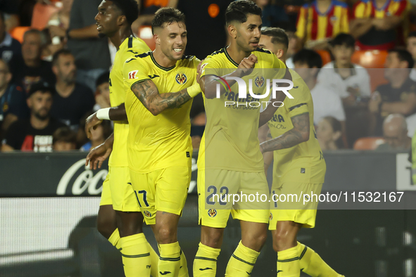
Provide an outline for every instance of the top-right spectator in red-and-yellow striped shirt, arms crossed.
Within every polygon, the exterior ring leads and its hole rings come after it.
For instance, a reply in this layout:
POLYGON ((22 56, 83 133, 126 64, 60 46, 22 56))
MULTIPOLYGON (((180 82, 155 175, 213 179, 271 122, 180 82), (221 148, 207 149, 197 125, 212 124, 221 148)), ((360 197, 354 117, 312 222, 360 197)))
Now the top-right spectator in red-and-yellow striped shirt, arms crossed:
POLYGON ((389 50, 404 45, 407 0, 357 1, 351 16, 351 34, 360 50, 389 50))

